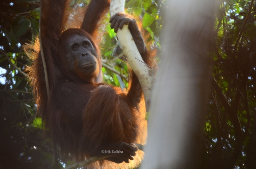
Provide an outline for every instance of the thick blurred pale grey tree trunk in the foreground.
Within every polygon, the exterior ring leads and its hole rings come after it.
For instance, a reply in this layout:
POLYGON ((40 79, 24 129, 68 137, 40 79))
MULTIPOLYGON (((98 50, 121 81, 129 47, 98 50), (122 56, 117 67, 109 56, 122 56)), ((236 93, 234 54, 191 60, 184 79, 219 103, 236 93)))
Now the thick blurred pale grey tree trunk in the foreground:
POLYGON ((168 0, 142 169, 195 169, 214 47, 214 0, 168 0))

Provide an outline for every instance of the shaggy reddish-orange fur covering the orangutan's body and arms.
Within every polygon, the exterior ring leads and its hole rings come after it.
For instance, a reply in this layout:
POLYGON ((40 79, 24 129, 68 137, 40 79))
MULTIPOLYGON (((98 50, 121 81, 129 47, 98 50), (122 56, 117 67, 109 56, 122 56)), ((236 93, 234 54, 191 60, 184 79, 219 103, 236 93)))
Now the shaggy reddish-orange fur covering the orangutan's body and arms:
MULTIPOLYGON (((126 142, 145 144, 147 122, 145 104, 139 81, 131 71, 129 89, 122 91, 118 87, 102 84, 99 23, 107 12, 109 0, 92 0, 86 12, 67 10, 70 0, 42 0, 42 44, 48 68, 50 99, 48 100, 39 41, 24 46, 25 52, 33 60, 27 67, 38 112, 45 127, 54 133, 54 140, 60 147, 62 157, 71 157, 76 161, 84 160, 105 142, 126 142), (82 21, 81 13, 85 13, 82 21), (73 17, 77 24, 72 24, 73 17), (80 16, 80 17, 79 17, 80 16), (82 29, 77 28, 82 24, 82 29), (65 29, 68 29, 64 31, 65 29), (97 78, 91 82, 83 75, 74 75, 65 61, 63 43, 73 34, 84 35, 92 42, 97 52, 97 78), (99 72, 99 73, 98 73, 99 72)), ((150 66, 154 51, 143 54, 143 60, 150 66)), ((143 158, 138 151, 130 163, 116 164, 106 160, 93 163, 88 168, 128 169, 137 167, 143 158)))

